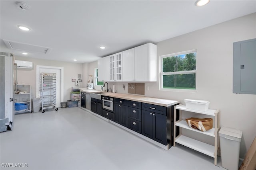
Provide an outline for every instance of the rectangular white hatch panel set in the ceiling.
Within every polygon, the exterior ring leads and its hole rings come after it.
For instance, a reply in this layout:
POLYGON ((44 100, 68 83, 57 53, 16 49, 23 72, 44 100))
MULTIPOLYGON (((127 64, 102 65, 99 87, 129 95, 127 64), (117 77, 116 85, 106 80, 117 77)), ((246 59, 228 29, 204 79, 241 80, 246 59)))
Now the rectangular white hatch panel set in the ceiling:
POLYGON ((19 43, 15 41, 6 40, 6 39, 3 39, 3 41, 9 49, 14 49, 14 50, 30 51, 30 52, 44 53, 44 54, 49 54, 50 51, 52 50, 52 48, 49 48, 49 47, 19 43))

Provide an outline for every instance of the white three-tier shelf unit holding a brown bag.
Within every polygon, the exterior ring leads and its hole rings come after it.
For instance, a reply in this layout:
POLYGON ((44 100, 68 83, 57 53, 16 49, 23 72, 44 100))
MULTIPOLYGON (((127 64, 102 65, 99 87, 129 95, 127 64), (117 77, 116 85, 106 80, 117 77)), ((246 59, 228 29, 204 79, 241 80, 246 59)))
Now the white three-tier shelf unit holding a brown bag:
POLYGON ((175 135, 174 135, 173 146, 175 147, 175 143, 179 143, 179 144, 189 147, 191 149, 197 150, 198 152, 201 152, 203 154, 211 156, 214 158, 214 165, 217 165, 217 155, 219 155, 219 149, 220 149, 220 140, 218 138, 219 110, 218 109, 217 110, 208 109, 207 111, 198 111, 198 110, 187 109, 186 106, 180 104, 180 105, 174 106, 174 120, 176 120, 177 110, 179 110, 179 120, 174 122, 174 134, 176 134, 176 126, 179 127, 180 133, 177 137, 175 137, 175 135), (214 117, 214 127, 206 132, 202 132, 197 129, 190 128, 188 126, 186 120, 182 120, 182 111, 210 115, 210 116, 214 117), (214 146, 182 135, 182 128, 213 137, 214 138, 214 146))

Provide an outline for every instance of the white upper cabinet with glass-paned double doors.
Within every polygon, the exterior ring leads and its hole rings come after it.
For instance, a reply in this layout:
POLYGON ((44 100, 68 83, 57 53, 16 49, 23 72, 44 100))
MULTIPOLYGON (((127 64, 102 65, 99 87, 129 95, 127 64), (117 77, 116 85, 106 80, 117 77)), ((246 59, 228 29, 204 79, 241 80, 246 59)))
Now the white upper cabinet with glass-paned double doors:
POLYGON ((122 52, 110 55, 110 81, 122 81, 122 52))

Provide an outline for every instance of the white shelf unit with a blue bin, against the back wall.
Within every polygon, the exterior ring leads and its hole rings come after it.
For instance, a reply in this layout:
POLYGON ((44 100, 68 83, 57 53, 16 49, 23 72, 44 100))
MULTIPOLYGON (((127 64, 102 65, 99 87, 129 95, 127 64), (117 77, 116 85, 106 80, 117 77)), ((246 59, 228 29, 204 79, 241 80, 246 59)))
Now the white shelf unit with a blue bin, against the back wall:
POLYGON ((14 113, 32 113, 30 84, 17 84, 17 90, 19 93, 14 94, 14 113))

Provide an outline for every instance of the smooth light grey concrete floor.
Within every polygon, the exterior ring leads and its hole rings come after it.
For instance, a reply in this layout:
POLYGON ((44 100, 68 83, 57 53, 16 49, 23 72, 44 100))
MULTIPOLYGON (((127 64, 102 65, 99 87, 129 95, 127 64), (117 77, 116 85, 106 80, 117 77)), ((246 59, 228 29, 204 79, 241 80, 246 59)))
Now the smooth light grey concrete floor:
POLYGON ((78 107, 15 115, 0 133, 1 170, 220 170, 214 158, 182 145, 161 149, 78 107), (3 168, 2 163, 27 163, 3 168))

